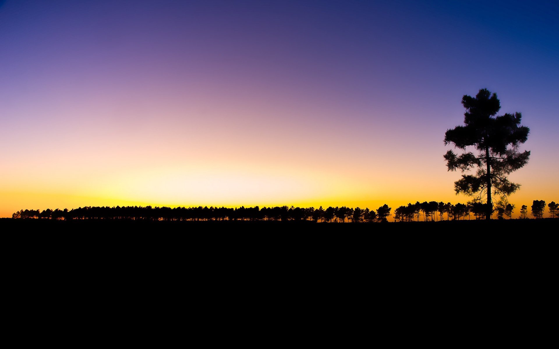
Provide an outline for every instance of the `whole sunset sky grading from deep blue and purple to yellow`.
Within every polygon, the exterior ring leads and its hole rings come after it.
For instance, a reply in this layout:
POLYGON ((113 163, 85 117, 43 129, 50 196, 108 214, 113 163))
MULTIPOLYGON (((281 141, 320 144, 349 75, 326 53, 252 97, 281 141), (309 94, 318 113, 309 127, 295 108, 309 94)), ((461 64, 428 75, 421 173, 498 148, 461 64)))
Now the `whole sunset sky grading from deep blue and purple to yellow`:
POLYGON ((559 202, 557 18, 552 1, 0 1, 0 217, 466 203, 443 139, 481 88, 530 128, 518 217, 559 202))

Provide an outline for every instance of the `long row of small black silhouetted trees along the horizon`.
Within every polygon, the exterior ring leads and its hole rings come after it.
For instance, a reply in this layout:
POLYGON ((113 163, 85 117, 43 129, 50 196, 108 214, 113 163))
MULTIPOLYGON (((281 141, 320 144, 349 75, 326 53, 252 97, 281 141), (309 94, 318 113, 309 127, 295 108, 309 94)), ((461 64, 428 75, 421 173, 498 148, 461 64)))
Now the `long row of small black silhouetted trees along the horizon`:
MULTIPOLYGON (((559 204, 551 202, 548 205, 552 218, 557 217, 559 204)), ((499 219, 512 216, 515 205, 499 202, 492 213, 496 212, 499 219)), ((534 200, 532 216, 543 218, 546 202, 534 200)), ((12 214, 12 218, 41 218, 41 219, 138 219, 149 221, 311 221, 311 222, 387 222, 392 208, 387 204, 376 210, 368 208, 328 207, 324 209, 309 207, 151 207, 151 206, 116 206, 96 207, 86 206, 74 209, 21 209, 12 214)), ((414 221, 444 221, 471 219, 485 219, 487 205, 481 202, 466 204, 444 202, 416 202, 402 205, 394 210, 396 222, 414 221), (446 216, 446 219, 444 219, 446 216)), ((528 218, 528 207, 522 205, 520 218, 528 218)))

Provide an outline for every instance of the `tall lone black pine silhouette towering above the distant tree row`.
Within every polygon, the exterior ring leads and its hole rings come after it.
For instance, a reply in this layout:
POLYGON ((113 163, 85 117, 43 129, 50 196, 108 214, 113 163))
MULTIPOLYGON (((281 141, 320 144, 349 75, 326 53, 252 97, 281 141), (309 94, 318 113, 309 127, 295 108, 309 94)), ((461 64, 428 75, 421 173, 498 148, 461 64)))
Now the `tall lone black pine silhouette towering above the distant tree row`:
POLYGON ((476 97, 464 95, 462 105, 466 108, 465 126, 447 130, 444 145, 452 143, 464 151, 473 146, 479 154, 464 152, 456 155, 449 150, 444 159, 449 171, 460 169, 463 173, 477 168, 475 175, 462 175, 462 179, 454 182, 454 190, 456 194, 476 197, 475 201, 479 202, 484 202, 485 197, 485 219, 491 219, 491 195, 499 195, 506 201, 506 197, 520 187, 506 176, 528 163, 530 152, 519 152, 518 149, 528 139, 530 129, 520 125, 520 113, 494 118, 501 105, 497 95, 487 89, 480 89, 476 97))

